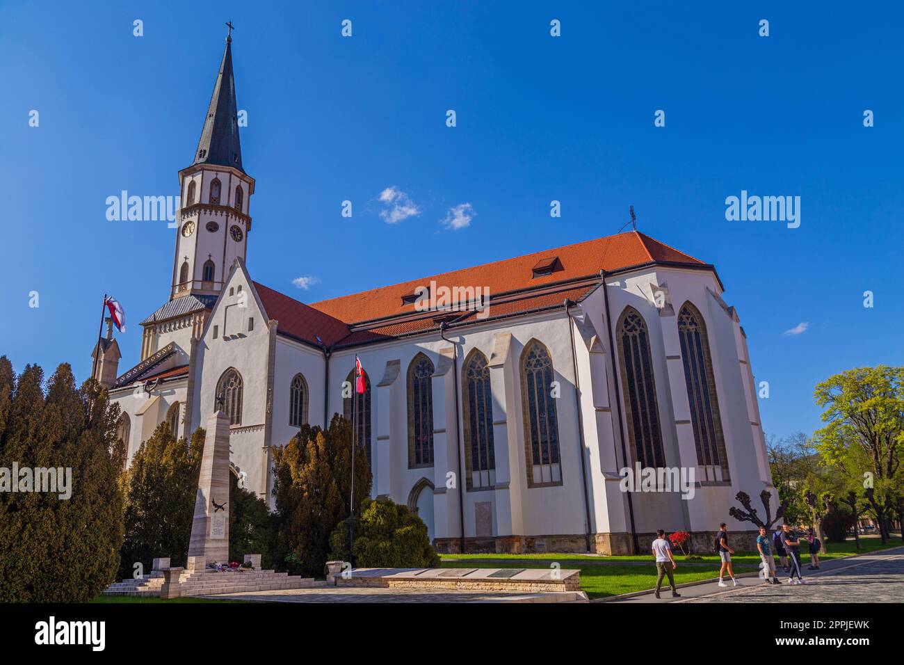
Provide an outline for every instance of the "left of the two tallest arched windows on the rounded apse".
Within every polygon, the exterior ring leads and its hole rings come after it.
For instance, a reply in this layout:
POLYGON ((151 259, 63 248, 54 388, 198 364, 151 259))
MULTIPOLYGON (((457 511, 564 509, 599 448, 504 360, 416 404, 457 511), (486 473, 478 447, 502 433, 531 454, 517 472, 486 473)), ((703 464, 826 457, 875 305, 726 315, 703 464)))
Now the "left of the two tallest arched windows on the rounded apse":
POLYGON ((627 432, 635 460, 645 468, 663 467, 663 432, 659 424, 650 337, 644 318, 633 307, 627 307, 618 319, 617 345, 627 432))

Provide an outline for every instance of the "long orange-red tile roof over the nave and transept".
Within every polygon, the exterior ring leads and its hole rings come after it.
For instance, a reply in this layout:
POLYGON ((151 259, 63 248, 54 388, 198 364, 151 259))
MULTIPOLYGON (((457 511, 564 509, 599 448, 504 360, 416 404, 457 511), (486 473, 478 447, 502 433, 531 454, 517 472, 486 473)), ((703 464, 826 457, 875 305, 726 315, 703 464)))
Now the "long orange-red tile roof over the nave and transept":
MULTIPOLYGON (((306 305, 296 299, 254 283, 269 318, 278 320, 278 331, 319 346, 353 346, 439 328, 442 314, 419 312, 413 302, 404 303, 417 287, 474 287, 490 289, 488 318, 511 316, 559 306, 564 299, 578 301, 593 290, 599 271, 619 271, 651 263, 711 267, 643 233, 631 231, 526 254, 514 259, 446 272, 420 280, 353 293, 341 298, 306 305), (541 261, 558 257, 560 270, 539 277, 533 269, 541 261)), ((452 320, 475 323, 476 312, 452 312, 452 320)))

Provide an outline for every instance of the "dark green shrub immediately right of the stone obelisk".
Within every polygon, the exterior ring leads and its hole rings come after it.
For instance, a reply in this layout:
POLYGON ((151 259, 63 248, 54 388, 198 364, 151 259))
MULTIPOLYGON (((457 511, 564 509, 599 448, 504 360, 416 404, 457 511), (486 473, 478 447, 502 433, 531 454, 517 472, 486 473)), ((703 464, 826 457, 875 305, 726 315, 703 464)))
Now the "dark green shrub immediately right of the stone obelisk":
POLYGON ((230 474, 229 558, 241 563, 247 554, 259 554, 263 568, 281 567, 275 559, 278 516, 254 492, 239 487, 230 474))

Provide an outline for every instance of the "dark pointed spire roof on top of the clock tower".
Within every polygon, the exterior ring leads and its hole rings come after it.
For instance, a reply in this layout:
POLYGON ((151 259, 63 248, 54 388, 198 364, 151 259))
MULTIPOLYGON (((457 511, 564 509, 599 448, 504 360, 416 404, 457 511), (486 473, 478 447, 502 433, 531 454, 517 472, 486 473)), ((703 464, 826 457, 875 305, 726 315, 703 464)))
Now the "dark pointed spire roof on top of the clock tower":
POLYGON ((242 173, 239 121, 235 103, 235 80, 232 78, 232 38, 226 38, 226 51, 220 63, 216 85, 213 86, 211 105, 207 109, 204 128, 194 164, 235 166, 242 173))

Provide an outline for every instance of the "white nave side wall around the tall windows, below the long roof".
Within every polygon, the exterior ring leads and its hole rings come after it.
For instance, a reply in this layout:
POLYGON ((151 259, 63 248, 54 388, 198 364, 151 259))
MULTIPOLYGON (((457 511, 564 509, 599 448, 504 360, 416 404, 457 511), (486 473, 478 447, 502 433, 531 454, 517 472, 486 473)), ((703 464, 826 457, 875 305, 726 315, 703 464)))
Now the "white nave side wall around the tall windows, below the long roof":
MULTIPOLYGON (((492 310, 491 310, 492 316, 492 310)), ((575 396, 573 388, 573 370, 571 362, 570 337, 567 320, 564 313, 557 311, 534 318, 518 320, 506 320, 502 323, 488 323, 480 328, 469 328, 466 331, 449 331, 447 337, 459 341, 464 336, 464 344, 458 348, 457 370, 459 375, 458 389, 461 391, 461 371, 464 359, 473 348, 478 348, 489 359, 494 349, 494 336, 500 332, 510 333, 512 341, 509 349, 509 357, 506 363, 511 366, 511 376, 515 379, 510 387, 508 396, 503 395, 507 404, 507 413, 496 413, 494 405, 494 421, 497 423, 504 418, 506 425, 507 445, 495 441, 496 450, 496 489, 472 489, 466 490, 464 497, 464 517, 467 537, 476 536, 476 508, 477 503, 489 502, 492 504, 494 536, 545 536, 545 535, 576 535, 584 533, 584 503, 581 489, 580 460, 578 449, 578 429, 575 418, 575 396), (556 380, 560 383, 560 398, 557 400, 557 417, 559 421, 560 459, 563 484, 554 487, 528 488, 525 452, 523 446, 523 408, 521 403, 520 361, 523 347, 536 338, 550 351, 556 380), (500 451, 509 451, 508 460, 502 460, 500 451), (510 463, 514 461, 514 463, 510 463), (498 474, 505 462, 509 466, 506 479, 500 481, 498 474), (500 487, 504 482, 509 482, 509 487, 500 487), (504 505, 503 505, 504 504, 504 505), (500 521, 503 529, 500 530, 500 521), (506 528, 507 527, 507 528, 506 528)), ((408 468, 408 415, 407 415, 407 372, 411 360, 419 351, 424 351, 434 366, 438 363, 438 348, 447 347, 448 344, 437 335, 422 338, 417 341, 400 341, 388 344, 359 347, 352 351, 336 353, 331 360, 331 413, 341 412, 342 403, 341 385, 348 371, 353 367, 354 353, 361 357, 365 371, 369 373, 372 382, 372 450, 374 451, 373 469, 375 470, 373 495, 385 493, 397 502, 407 502, 410 489, 422 478, 430 480, 445 477, 447 470, 425 470, 408 468), (399 398, 395 404, 378 404, 383 394, 391 394, 384 386, 382 393, 378 384, 386 374, 386 364, 392 360, 399 360, 400 371, 395 379, 399 384, 399 398), (341 368, 341 369, 340 369, 341 368), (382 411, 381 411, 382 408, 382 411), (391 419, 388 428, 382 428, 378 423, 379 414, 383 413, 385 419, 391 419), (379 432, 385 432, 381 434, 379 432), (378 436, 389 438, 378 441, 378 436), (388 461, 380 466, 381 451, 387 451, 384 458, 388 461), (381 479, 381 473, 383 478, 381 479), (389 473, 391 479, 386 479, 389 473)), ((447 392, 447 400, 454 400, 454 394, 447 392)), ((459 399, 459 419, 461 415, 461 399, 459 399)), ((459 420, 459 422, 461 422, 459 420)), ((454 423, 446 423, 449 436, 454 437, 454 423), (451 425, 451 427, 450 427, 451 425)), ((494 428, 494 436, 499 432, 494 428)), ((460 438, 463 441, 463 437, 460 438)), ((459 443, 459 446, 461 443, 459 443)), ((461 480, 462 471, 449 469, 456 474, 457 480, 461 480)), ((464 484, 464 483, 462 483, 464 484)), ((445 489, 445 488, 440 488, 445 489)), ((454 492, 448 493, 448 500, 457 502, 454 492)), ((438 505, 438 504, 437 504, 438 505)), ((455 507, 457 512, 457 506, 455 507)), ((457 537, 457 524, 455 520, 447 519, 447 516, 437 518, 437 537, 457 537), (451 522, 447 529, 454 533, 442 532, 442 525, 451 522)))

